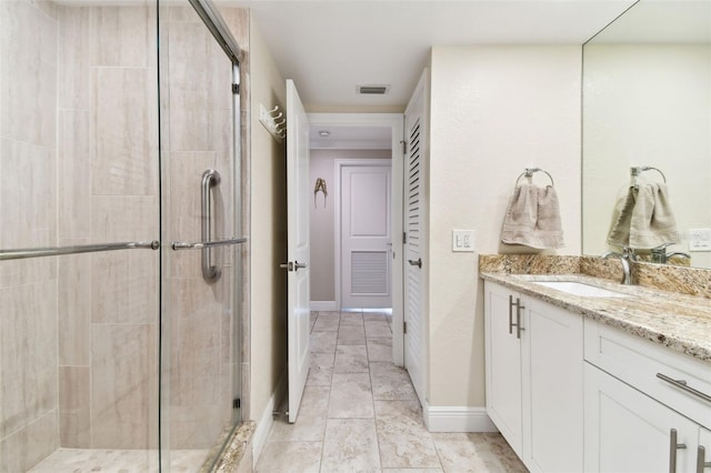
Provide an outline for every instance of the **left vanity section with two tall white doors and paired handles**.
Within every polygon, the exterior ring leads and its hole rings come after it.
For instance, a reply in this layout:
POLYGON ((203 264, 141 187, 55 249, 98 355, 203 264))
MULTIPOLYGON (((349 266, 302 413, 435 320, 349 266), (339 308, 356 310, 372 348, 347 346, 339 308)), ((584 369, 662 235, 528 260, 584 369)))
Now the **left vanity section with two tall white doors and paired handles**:
POLYGON ((489 416, 530 471, 582 471, 582 316, 490 281, 484 306, 489 416))

